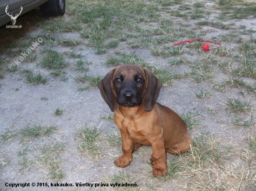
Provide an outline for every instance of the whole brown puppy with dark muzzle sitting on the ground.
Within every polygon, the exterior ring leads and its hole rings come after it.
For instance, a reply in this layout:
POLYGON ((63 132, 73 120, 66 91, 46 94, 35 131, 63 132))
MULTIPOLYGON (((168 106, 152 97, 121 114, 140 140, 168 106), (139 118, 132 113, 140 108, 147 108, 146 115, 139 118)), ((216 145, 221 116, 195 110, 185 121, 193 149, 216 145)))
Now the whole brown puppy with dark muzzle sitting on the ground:
POLYGON ((116 166, 128 166, 132 153, 148 145, 153 147, 153 174, 162 177, 167 174, 166 152, 185 153, 192 145, 179 115, 156 102, 161 85, 150 70, 137 65, 118 66, 101 81, 101 96, 115 111, 122 137, 123 155, 115 160, 116 166))

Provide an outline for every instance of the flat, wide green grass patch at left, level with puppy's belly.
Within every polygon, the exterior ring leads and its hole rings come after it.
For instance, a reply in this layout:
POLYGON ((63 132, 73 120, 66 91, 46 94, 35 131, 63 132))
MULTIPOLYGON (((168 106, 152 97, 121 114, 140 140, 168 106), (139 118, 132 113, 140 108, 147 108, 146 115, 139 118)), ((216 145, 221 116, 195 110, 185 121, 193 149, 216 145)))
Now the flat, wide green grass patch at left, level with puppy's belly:
POLYGON ((41 136, 47 136, 53 134, 55 130, 57 130, 58 126, 40 126, 40 125, 33 125, 33 126, 26 126, 18 131, 22 140, 34 140, 35 138, 41 136))

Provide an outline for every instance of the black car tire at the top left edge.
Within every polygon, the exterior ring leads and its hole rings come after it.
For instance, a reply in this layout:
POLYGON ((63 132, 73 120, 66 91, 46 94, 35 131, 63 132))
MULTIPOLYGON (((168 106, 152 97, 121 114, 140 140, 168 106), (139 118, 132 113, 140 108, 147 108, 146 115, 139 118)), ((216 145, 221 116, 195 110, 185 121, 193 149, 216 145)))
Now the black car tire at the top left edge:
POLYGON ((41 12, 45 17, 62 16, 65 13, 65 0, 49 0, 40 6, 41 12))

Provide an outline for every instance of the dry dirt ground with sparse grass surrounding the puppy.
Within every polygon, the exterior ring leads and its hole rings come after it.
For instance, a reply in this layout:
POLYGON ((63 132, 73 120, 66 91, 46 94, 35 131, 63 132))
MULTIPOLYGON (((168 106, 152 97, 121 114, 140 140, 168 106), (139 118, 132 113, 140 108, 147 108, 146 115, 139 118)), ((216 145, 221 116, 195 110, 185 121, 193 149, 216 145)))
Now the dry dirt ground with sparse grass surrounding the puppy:
MULTIPOLYGON (((102 41, 104 46, 93 44, 92 34, 86 31, 89 22, 76 23, 81 28, 70 30, 63 25, 72 25, 72 19, 76 17, 74 10, 79 6, 88 9, 100 5, 114 6, 113 1, 68 0, 62 20, 40 20, 40 10, 36 9, 17 19, 16 25, 22 25, 22 30, 0 28, 1 191, 256 190, 255 14, 245 19, 229 18, 231 14, 221 18, 220 13, 225 10, 219 8, 217 0, 123 2, 124 5, 129 3, 160 15, 155 19, 147 15, 144 15, 146 19, 132 18, 134 22, 120 29, 121 35, 105 38, 102 41), (137 5, 138 2, 141 4, 137 5), (193 18, 190 11, 199 9, 207 13, 199 12, 204 17, 196 18, 195 15, 193 18), (34 14, 39 18, 31 19, 34 14), (34 23, 38 22, 37 19, 40 25, 34 23), (165 23, 171 29, 160 25, 161 19, 169 19, 170 22, 165 20, 165 23), (196 24, 202 20, 212 23, 196 24), (64 24, 51 29, 54 22, 64 24), (43 42, 31 53, 36 57, 15 65, 13 60, 19 59, 33 42, 40 41, 39 38, 43 42), (156 40, 161 38, 167 38, 167 41, 157 43, 156 40), (222 47, 204 52, 201 50, 202 42, 194 42, 173 50, 173 43, 194 38, 221 42, 222 47), (65 40, 71 45, 65 44, 65 40), (111 47, 108 43, 111 40, 116 40, 118 45, 111 47), (42 60, 47 60, 45 49, 57 51, 61 60, 68 62, 68 66, 57 69, 62 72, 60 76, 53 75, 56 69, 42 66, 42 60), (118 129, 111 119, 113 113, 96 87, 98 82, 90 85, 81 80, 86 75, 105 76, 115 67, 115 62, 107 65, 114 57, 117 64, 148 64, 155 75, 173 76, 171 80, 162 77, 163 87, 157 102, 182 116, 195 147, 181 156, 167 154, 169 174, 165 178, 153 177, 149 164, 152 148, 148 146, 133 154, 130 166, 121 169, 114 164, 122 151, 118 129), (88 70, 77 69, 79 60, 88 70), (250 71, 247 70, 249 66, 243 64, 246 60, 251 64, 250 71), (15 66, 14 70, 10 70, 11 64, 15 66), (34 75, 40 72, 43 77, 47 76, 47 82, 37 84, 35 80, 29 83, 27 76, 31 73, 28 70, 34 75), (248 72, 244 73, 245 70, 248 72), (236 100, 242 104, 242 110, 236 108, 239 107, 236 100), (57 108, 63 110, 61 115, 54 114, 57 108), (110 117, 106 119, 108 115, 110 117), (87 145, 81 148, 85 139, 89 139, 82 138, 81 129, 85 127, 99 134, 92 140, 92 148, 87 145), (94 185, 92 188, 75 185, 80 182, 94 185), (30 183, 30 186, 12 188, 6 183, 30 183), (49 187, 32 187, 32 183, 47 183, 49 187), (54 187, 51 183, 73 186, 54 187), (108 183, 108 186, 101 183, 108 183), (113 188, 110 183, 136 183, 138 186, 113 188), (99 185, 95 188, 95 184, 99 185)), ((114 20, 117 19, 114 17, 112 24, 114 20)), ((111 24, 108 27, 114 28, 111 24)), ((94 137, 94 133, 88 134, 94 137)))

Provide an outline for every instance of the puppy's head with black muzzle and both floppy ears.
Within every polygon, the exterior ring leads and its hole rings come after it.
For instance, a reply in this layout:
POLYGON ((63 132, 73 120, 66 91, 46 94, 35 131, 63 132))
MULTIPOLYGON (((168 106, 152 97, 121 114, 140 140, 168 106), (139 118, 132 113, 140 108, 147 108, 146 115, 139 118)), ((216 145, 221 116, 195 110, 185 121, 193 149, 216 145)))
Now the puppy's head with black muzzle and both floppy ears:
POLYGON ((121 65, 108 72, 99 88, 111 111, 115 111, 117 104, 132 107, 141 103, 146 111, 151 111, 159 95, 161 82, 147 68, 121 65))

